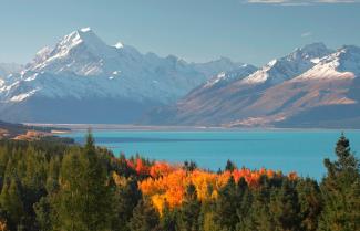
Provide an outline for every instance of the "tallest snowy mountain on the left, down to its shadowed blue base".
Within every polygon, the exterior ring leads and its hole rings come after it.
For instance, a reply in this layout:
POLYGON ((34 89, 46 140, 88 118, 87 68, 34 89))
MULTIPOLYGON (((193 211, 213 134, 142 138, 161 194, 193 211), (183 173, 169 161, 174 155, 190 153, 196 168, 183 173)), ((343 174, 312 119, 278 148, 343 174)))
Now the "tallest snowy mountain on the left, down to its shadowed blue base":
POLYGON ((239 63, 187 63, 105 44, 91 29, 76 30, 39 51, 0 85, 0 118, 43 123, 133 123, 147 109, 175 103, 239 63))

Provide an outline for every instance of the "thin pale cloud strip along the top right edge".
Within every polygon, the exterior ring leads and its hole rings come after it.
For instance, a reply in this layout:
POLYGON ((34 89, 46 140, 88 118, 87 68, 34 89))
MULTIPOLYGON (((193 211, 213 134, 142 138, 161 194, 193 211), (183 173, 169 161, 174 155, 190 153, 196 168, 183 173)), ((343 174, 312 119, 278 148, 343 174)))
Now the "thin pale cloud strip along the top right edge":
POLYGON ((281 6, 308 6, 329 3, 360 3, 360 0, 241 0, 246 3, 281 4, 281 6))

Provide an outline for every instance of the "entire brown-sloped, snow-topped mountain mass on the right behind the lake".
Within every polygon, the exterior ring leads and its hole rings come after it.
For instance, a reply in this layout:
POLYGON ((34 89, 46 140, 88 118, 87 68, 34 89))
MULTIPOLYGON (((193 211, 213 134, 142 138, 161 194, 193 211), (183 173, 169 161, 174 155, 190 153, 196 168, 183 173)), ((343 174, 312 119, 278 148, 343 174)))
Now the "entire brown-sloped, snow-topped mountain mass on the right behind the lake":
POLYGON ((331 51, 321 43, 307 45, 218 90, 224 77, 205 83, 204 94, 194 97, 193 91, 145 118, 186 125, 360 127, 357 46, 331 51))

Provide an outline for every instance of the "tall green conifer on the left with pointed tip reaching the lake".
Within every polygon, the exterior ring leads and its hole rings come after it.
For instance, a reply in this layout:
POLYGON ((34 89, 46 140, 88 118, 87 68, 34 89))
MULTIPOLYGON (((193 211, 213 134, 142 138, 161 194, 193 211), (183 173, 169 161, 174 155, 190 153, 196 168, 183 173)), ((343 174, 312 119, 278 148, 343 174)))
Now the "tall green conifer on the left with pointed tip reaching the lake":
POLYGON ((89 133, 85 147, 70 151, 62 161, 56 204, 59 230, 111 229, 113 195, 106 172, 89 133))

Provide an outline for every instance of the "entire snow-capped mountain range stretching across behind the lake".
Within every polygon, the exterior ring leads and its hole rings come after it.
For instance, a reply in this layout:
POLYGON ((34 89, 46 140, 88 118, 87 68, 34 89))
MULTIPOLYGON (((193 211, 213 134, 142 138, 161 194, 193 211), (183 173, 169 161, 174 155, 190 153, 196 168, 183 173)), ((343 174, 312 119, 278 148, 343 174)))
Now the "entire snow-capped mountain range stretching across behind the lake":
POLYGON ((353 45, 313 43, 261 67, 188 63, 107 45, 85 28, 24 66, 1 66, 0 118, 10 122, 360 127, 353 45))

